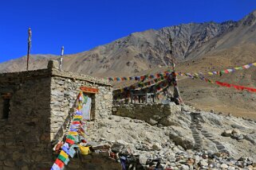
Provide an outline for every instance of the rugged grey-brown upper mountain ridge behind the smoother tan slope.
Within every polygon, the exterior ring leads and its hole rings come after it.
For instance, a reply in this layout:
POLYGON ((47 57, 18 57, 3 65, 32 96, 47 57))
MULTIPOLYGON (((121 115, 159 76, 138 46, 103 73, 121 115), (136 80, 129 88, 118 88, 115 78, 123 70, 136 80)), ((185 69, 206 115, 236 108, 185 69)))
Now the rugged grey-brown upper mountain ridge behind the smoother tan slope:
MULTIPOLYGON (((219 52, 239 44, 254 43, 255 12, 241 21, 223 23, 190 23, 149 29, 132 33, 112 43, 65 56, 64 68, 89 75, 127 75, 170 64, 168 41, 173 37, 173 53, 178 61, 191 60, 208 53, 219 52)), ((44 60, 53 56, 32 57, 32 68, 44 68, 44 60)), ((1 71, 19 71, 26 67, 25 60, 13 60, 0 65, 1 71), (22 62, 21 62, 22 61, 22 62), (16 65, 15 65, 16 64, 16 65)))

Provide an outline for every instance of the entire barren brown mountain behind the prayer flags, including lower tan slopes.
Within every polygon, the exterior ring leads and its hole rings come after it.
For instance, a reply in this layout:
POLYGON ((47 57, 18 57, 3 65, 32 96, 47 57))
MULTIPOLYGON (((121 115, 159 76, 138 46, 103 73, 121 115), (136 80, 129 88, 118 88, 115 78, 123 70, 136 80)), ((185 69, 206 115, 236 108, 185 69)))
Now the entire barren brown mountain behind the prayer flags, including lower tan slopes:
MULTIPOLYGON (((86 52, 64 56, 64 69, 100 77, 144 75, 170 65, 169 36, 173 39, 176 71, 207 72, 256 62, 256 11, 240 21, 189 23, 132 33, 86 52)), ((59 56, 33 55, 30 69, 46 68, 59 56)), ((24 71, 26 56, 0 64, 1 71, 24 71)), ((256 87, 256 68, 235 71, 209 79, 256 87)), ((120 84, 114 84, 117 87, 120 84)), ((215 110, 256 119, 256 94, 179 78, 183 100, 205 110, 215 110)))

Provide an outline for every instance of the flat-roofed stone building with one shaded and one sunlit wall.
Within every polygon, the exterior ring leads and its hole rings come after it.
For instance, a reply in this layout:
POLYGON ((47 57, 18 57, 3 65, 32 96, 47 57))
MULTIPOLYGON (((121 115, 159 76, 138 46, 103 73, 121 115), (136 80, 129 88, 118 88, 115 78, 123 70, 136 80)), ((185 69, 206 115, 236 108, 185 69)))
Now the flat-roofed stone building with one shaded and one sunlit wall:
POLYGON ((49 169, 81 87, 93 87, 91 119, 112 112, 106 79, 48 68, 0 74, 0 170, 49 169))

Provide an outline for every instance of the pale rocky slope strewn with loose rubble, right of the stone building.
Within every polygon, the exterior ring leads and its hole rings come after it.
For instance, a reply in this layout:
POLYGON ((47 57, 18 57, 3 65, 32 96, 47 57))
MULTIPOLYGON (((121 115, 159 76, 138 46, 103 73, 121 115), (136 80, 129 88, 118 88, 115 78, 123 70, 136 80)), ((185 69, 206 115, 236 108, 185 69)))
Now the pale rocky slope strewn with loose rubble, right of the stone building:
POLYGON ((254 120, 180 107, 170 126, 116 115, 89 122, 88 145, 125 169, 256 169, 254 120))

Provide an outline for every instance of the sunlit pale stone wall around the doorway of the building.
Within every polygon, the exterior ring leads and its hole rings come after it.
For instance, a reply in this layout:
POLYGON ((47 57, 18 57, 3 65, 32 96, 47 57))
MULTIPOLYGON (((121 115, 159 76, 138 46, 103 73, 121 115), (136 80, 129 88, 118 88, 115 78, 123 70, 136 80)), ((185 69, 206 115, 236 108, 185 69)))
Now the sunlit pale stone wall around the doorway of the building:
MULTIPOLYGON (((56 141, 65 132, 69 123, 69 115, 75 108, 80 87, 94 87, 99 89, 93 98, 92 106, 95 118, 103 118, 112 114, 112 87, 97 83, 90 83, 82 79, 53 76, 51 79, 51 140, 56 141)), ((86 95, 86 94, 85 94, 86 95)), ((93 111, 92 110, 92 111, 93 111)))

